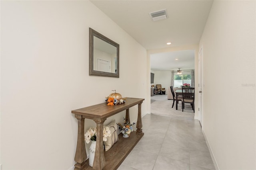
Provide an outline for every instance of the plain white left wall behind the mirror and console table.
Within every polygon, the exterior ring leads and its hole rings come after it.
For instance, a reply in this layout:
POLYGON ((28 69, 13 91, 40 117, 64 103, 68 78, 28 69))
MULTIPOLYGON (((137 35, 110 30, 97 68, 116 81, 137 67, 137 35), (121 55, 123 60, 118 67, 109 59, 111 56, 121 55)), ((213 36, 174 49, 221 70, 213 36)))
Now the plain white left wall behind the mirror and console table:
MULTIPOLYGON (((146 50, 90 1, 1 1, 2 170, 72 168, 71 111, 104 102, 111 90, 146 98, 146 61, 146 50), (89 27, 120 45, 120 78, 88 75, 89 27)), ((86 119, 86 130, 95 126, 86 119)))

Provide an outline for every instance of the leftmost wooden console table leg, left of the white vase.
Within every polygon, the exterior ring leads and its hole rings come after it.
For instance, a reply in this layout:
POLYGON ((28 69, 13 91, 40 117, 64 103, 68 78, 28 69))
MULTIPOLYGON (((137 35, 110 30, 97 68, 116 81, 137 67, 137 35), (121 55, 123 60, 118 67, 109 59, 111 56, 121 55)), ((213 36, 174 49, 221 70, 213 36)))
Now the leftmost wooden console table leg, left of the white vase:
POLYGON ((83 170, 85 168, 87 158, 85 143, 84 143, 84 118, 82 115, 75 115, 78 120, 78 134, 76 144, 75 161, 77 162, 74 166, 74 170, 83 170))

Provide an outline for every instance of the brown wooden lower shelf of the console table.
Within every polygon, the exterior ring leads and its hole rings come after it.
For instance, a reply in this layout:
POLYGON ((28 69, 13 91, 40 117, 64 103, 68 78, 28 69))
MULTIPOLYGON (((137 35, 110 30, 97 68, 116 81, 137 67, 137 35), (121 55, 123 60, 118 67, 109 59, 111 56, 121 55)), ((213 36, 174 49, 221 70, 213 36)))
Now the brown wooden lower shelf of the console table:
MULTIPOLYGON (((137 134, 136 131, 131 132, 128 138, 124 138, 122 134, 118 135, 118 142, 115 143, 108 151, 104 151, 106 165, 103 170, 116 170, 124 161, 126 156, 131 152, 135 145, 142 138, 142 134, 137 134)), ((86 170, 93 170, 89 166, 89 159, 86 161, 86 170)))

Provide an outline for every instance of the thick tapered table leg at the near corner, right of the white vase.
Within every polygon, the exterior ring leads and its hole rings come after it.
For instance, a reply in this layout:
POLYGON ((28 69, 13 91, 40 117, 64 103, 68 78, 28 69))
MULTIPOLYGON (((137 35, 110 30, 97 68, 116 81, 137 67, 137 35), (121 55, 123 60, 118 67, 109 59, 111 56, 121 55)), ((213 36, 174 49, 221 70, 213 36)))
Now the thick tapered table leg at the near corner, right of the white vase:
POLYGON ((97 128, 97 140, 96 140, 96 149, 95 149, 95 156, 93 161, 92 168, 94 170, 102 170, 105 166, 105 156, 104 156, 104 148, 103 148, 103 123, 106 120, 106 118, 100 119, 100 118, 94 118, 93 119, 96 122, 96 128, 97 128))

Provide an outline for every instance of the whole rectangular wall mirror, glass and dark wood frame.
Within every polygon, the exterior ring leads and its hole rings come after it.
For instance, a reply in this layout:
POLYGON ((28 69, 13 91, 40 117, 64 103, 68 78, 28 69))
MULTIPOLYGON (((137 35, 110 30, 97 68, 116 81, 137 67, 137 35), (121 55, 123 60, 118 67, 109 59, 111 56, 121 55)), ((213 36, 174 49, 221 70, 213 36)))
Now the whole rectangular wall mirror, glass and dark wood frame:
POLYGON ((119 44, 89 28, 89 75, 119 77, 119 44))

